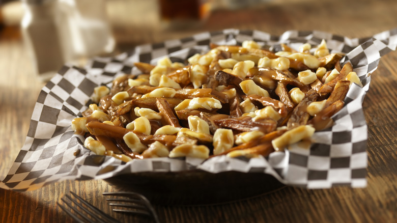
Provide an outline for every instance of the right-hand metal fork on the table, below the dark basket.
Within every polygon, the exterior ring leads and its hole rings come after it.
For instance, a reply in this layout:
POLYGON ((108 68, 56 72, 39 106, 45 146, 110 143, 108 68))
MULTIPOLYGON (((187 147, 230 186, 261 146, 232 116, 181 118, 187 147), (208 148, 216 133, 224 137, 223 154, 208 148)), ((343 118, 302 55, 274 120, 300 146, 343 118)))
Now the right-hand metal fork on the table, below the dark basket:
POLYGON ((142 194, 135 192, 104 192, 102 194, 111 196, 106 198, 110 206, 122 207, 122 209, 112 209, 113 211, 152 216, 156 223, 160 223, 153 206, 142 194))

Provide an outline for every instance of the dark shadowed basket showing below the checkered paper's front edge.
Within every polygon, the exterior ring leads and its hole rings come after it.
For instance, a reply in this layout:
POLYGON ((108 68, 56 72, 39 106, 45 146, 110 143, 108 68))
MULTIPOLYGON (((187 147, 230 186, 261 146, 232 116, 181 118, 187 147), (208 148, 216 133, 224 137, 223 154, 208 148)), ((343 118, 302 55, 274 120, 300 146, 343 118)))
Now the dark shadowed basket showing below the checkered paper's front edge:
POLYGON ((285 186, 263 173, 229 171, 213 174, 201 170, 133 173, 104 181, 120 191, 138 192, 154 204, 166 205, 232 202, 285 186))

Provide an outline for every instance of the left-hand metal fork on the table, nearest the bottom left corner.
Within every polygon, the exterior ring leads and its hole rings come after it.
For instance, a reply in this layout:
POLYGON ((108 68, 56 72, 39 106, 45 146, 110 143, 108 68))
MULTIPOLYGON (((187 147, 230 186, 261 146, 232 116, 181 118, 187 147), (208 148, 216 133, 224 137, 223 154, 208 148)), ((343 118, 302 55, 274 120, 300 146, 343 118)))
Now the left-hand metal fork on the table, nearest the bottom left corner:
POLYGON ((65 194, 68 199, 61 198, 65 205, 58 205, 64 210, 69 216, 71 216, 76 222, 101 222, 101 223, 120 223, 120 221, 112 218, 108 214, 94 207, 87 201, 84 201, 76 193, 70 191, 74 198, 69 194, 65 194), (72 204, 73 203, 73 204, 72 204))

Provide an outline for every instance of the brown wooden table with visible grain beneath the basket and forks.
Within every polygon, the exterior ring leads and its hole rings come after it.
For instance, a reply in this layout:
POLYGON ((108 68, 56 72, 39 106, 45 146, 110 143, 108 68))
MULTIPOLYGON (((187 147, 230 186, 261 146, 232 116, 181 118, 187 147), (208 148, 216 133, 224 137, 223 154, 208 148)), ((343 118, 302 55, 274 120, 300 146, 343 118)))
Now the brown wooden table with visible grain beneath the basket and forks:
MULTIPOLYGON (((238 11, 217 10, 196 29, 164 31, 158 25, 145 28, 148 26, 140 22, 145 20, 143 17, 129 13, 129 9, 145 1, 129 1, 135 5, 120 0, 108 2, 119 50, 226 28, 261 30, 274 35, 287 30, 320 30, 360 38, 397 27, 394 0, 280 0, 238 11)), ((366 188, 285 187, 256 198, 221 205, 156 205, 159 218, 162 222, 395 222, 396 62, 395 51, 381 59, 363 105, 368 124, 366 188)), ((0 36, 0 80, 0 176, 3 179, 23 145, 37 96, 45 84, 36 78, 20 35, 11 28, 0 36)), ((90 180, 64 181, 23 193, 0 189, 0 222, 71 222, 56 205, 70 190, 120 220, 145 221, 111 213, 101 193, 114 191, 114 188, 103 181, 90 180)))

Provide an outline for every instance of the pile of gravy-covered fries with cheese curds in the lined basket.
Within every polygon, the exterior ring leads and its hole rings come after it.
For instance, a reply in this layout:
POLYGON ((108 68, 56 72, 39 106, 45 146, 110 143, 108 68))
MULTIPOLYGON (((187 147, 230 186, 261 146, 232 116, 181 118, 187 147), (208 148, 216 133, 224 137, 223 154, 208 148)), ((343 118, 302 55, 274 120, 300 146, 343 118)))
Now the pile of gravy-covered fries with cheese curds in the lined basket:
POLYGON ((164 57, 135 63, 140 75, 95 88, 72 121, 84 147, 123 161, 150 157, 268 156, 333 125, 354 82, 352 65, 316 48, 211 44, 186 64, 164 57))

